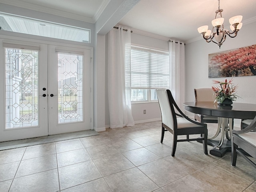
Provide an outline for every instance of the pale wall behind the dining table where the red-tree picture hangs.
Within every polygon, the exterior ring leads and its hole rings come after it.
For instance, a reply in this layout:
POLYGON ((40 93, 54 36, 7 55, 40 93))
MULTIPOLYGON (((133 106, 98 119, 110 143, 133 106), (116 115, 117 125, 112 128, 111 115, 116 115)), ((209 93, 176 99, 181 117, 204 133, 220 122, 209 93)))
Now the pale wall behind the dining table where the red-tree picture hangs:
MULTIPOLYGON (((243 25, 238 35, 235 38, 227 37, 221 48, 212 42, 207 43, 203 39, 186 44, 186 102, 194 101, 194 88, 212 87, 212 80, 226 79, 224 77, 208 78, 208 54, 256 44, 255 30, 256 22, 243 25)), ((227 79, 230 78, 227 77, 227 79)), ((237 95, 242 97, 238 98, 236 102, 256 104, 256 76, 233 77, 233 83, 238 84, 237 95)), ((239 126, 239 124, 240 121, 236 120, 235 125, 239 126)))

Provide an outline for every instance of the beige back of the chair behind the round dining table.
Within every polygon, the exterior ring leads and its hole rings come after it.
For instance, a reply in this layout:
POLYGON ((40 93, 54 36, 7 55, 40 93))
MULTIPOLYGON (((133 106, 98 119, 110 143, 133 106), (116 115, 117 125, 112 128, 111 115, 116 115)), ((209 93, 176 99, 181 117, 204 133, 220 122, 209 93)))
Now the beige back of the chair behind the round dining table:
POLYGON ((212 88, 198 88, 198 89, 194 89, 194 92, 195 92, 195 98, 194 98, 195 101, 214 102, 215 100, 214 91, 212 90, 212 88))

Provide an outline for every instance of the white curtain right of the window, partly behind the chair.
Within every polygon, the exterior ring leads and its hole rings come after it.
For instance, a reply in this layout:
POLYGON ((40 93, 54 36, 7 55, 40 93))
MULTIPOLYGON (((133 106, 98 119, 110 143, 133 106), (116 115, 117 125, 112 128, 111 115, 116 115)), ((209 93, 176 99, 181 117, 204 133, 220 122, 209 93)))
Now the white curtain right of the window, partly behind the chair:
MULTIPOLYGON (((185 102, 185 46, 177 40, 169 41, 170 90, 180 109, 185 102)), ((183 110, 184 111, 184 110, 183 110)))

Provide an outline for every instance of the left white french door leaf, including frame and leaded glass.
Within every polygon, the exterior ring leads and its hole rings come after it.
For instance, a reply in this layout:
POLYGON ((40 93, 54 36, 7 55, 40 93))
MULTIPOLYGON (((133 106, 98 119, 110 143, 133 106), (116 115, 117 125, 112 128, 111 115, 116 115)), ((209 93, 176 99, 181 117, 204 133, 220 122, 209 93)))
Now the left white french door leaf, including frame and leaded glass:
POLYGON ((47 49, 0 39, 0 142, 48 135, 47 49))

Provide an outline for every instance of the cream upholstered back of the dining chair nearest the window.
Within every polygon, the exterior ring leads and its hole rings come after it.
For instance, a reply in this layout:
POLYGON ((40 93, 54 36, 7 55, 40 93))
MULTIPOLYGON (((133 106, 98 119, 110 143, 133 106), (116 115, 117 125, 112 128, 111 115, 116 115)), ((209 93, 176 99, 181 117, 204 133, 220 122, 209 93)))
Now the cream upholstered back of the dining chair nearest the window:
POLYGON ((162 114, 162 123, 174 130, 174 123, 177 124, 177 119, 172 100, 168 97, 167 90, 164 88, 159 88, 156 90, 156 95, 158 97, 162 114))

